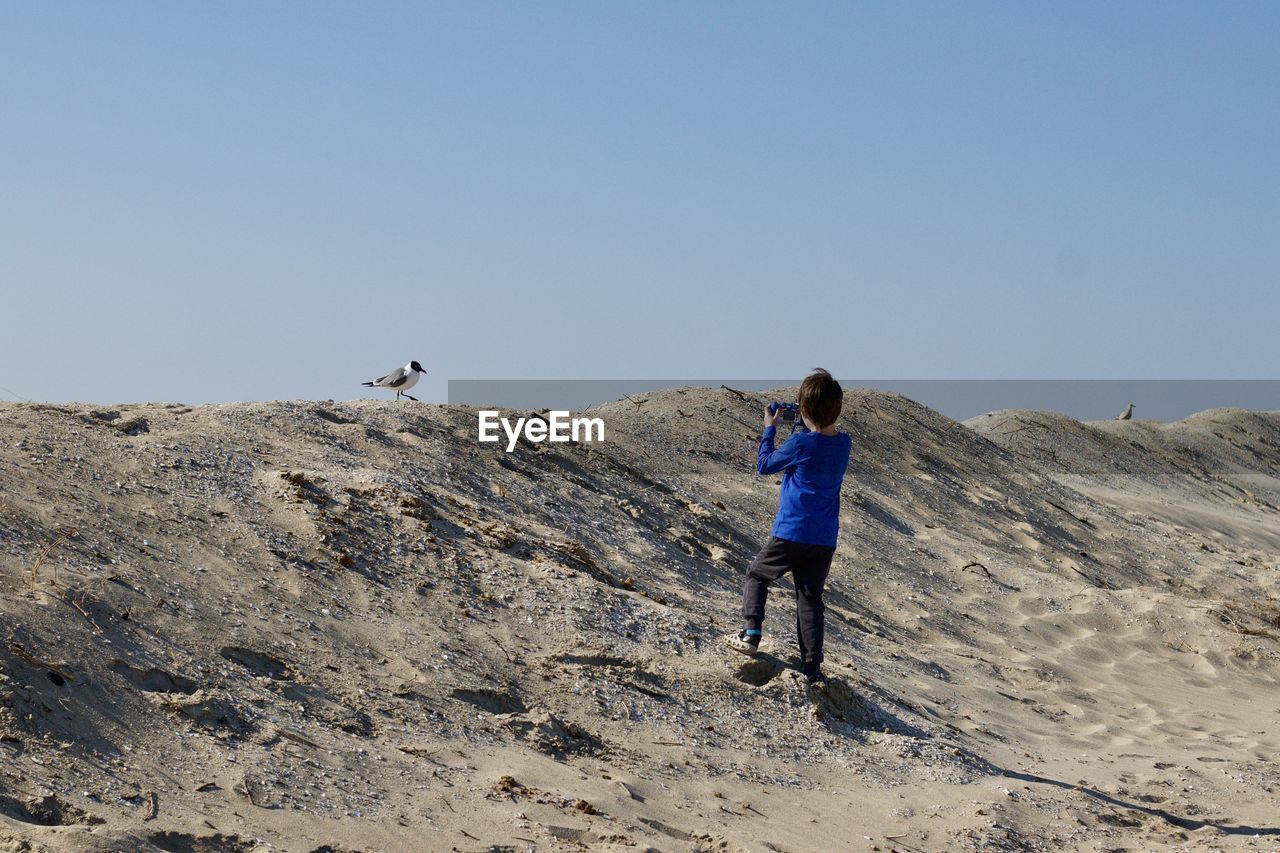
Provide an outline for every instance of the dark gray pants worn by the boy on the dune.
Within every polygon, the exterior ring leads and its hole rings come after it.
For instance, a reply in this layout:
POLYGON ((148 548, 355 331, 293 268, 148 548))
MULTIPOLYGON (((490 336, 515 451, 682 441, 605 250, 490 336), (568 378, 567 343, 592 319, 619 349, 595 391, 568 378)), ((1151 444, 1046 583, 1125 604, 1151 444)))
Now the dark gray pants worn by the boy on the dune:
POLYGON ((812 546, 772 537, 746 570, 746 587, 742 589, 742 620, 746 629, 760 630, 769 584, 790 571, 796 587, 800 662, 822 663, 822 633, 827 611, 822 603, 822 589, 827 584, 835 553, 835 546, 812 546))

